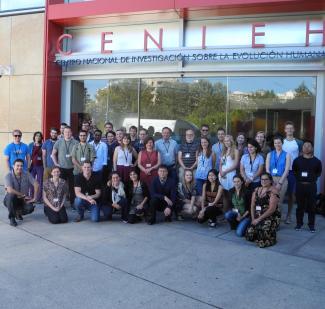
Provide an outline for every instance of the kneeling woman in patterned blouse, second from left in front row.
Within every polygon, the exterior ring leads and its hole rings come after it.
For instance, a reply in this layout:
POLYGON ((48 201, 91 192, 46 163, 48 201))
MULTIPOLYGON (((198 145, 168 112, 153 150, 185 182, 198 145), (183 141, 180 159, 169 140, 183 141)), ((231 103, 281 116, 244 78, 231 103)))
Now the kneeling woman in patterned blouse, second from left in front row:
POLYGON ((60 168, 55 166, 51 171, 52 178, 44 182, 43 201, 44 213, 50 223, 67 223, 68 215, 64 202, 68 195, 68 185, 60 178, 60 168))

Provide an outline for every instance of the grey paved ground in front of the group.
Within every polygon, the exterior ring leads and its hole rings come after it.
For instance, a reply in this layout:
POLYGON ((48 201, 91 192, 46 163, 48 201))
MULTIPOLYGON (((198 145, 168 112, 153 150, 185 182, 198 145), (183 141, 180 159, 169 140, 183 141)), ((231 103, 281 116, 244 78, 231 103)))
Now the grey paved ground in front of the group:
POLYGON ((322 217, 259 249, 226 224, 54 226, 40 207, 13 228, 1 206, 0 308, 325 308, 324 243, 322 217))

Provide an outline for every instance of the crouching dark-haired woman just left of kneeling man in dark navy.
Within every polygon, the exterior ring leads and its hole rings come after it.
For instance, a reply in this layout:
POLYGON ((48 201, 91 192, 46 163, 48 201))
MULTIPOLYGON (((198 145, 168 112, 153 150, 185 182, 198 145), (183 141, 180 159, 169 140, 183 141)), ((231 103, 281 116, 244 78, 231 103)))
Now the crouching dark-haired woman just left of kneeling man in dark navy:
POLYGON ((128 223, 140 222, 148 209, 149 191, 147 185, 140 181, 137 171, 130 172, 126 196, 129 205, 128 223))

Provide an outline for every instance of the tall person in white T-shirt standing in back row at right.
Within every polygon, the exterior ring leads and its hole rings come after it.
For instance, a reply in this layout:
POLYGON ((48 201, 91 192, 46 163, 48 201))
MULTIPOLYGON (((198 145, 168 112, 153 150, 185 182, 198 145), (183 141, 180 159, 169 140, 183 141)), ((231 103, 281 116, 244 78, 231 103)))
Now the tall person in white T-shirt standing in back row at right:
POLYGON ((288 174, 288 213, 285 220, 286 224, 291 223, 291 212, 294 202, 294 192, 296 191, 296 178, 292 170, 293 161, 299 156, 302 150, 302 141, 294 137, 295 126, 292 121, 287 121, 284 126, 286 138, 283 142, 283 150, 291 156, 291 166, 288 174))

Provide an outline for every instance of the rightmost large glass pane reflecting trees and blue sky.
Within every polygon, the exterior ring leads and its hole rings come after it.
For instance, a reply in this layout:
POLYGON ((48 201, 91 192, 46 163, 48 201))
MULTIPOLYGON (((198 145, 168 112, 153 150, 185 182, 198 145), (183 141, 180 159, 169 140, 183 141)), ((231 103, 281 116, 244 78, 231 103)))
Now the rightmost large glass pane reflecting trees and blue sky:
POLYGON ((230 132, 284 134, 295 124, 299 138, 314 138, 316 78, 229 77, 230 132))

